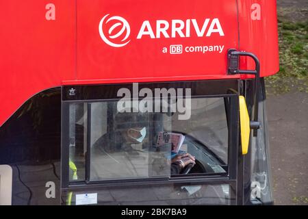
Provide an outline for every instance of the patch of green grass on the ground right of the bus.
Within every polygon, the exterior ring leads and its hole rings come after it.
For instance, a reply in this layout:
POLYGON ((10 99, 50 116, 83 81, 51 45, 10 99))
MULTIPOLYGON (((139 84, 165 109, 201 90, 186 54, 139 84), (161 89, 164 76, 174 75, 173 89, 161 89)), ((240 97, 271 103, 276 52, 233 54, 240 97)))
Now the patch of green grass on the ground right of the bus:
POLYGON ((266 87, 274 93, 308 92, 308 20, 278 22, 280 71, 266 78, 266 87))

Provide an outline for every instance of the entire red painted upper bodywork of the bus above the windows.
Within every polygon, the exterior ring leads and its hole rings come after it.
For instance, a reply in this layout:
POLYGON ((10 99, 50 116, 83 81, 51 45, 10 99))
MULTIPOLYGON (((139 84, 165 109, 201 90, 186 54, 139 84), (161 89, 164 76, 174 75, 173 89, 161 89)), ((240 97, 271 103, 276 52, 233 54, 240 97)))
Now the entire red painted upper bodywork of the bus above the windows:
POLYGON ((10 0, 0 13, 0 126, 63 84, 239 78, 227 75, 231 48, 255 53, 261 76, 279 69, 274 0, 10 0))

